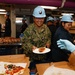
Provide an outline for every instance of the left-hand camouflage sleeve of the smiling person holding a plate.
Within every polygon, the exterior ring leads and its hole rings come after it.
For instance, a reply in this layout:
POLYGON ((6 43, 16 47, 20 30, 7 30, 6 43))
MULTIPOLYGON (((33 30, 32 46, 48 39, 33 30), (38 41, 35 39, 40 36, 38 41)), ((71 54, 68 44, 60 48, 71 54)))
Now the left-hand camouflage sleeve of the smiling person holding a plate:
POLYGON ((31 44, 31 30, 30 28, 27 28, 25 31, 24 31, 24 36, 22 38, 22 42, 23 42, 23 49, 27 51, 31 51, 32 50, 32 44, 31 44))

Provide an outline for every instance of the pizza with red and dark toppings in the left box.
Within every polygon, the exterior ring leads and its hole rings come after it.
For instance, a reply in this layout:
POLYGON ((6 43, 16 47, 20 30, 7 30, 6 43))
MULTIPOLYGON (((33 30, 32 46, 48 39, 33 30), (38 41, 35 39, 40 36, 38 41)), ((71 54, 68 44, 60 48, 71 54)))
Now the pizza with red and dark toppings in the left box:
POLYGON ((5 74, 9 75, 20 75, 23 74, 24 68, 13 64, 5 64, 5 74))

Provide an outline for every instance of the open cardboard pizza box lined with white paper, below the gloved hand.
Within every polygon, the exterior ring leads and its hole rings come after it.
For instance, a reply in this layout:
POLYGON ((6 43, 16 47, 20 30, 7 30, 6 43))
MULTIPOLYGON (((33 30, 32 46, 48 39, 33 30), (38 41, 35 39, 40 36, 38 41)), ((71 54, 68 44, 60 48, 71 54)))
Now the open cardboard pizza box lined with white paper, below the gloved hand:
POLYGON ((75 55, 70 55, 69 62, 36 64, 36 67, 39 75, 75 75, 75 55))

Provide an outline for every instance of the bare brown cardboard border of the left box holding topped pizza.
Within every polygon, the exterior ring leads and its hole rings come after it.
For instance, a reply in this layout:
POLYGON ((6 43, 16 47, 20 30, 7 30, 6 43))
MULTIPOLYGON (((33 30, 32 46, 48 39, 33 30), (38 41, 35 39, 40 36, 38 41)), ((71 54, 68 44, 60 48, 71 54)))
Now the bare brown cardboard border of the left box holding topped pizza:
POLYGON ((23 75, 29 75, 28 66, 30 61, 29 61, 29 57, 26 57, 25 54, 0 56, 0 61, 11 62, 11 63, 27 63, 23 75))

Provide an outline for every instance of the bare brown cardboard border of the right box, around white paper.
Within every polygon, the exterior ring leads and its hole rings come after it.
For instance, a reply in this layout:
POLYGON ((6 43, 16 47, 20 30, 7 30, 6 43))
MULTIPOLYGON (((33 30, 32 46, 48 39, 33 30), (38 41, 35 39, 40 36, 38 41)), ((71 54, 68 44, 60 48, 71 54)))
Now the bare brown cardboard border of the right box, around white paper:
POLYGON ((42 64, 36 64, 38 75, 43 75, 45 70, 50 67, 51 65, 54 65, 55 67, 59 68, 66 68, 66 69, 73 69, 73 67, 69 66, 69 63, 66 61, 62 62, 51 62, 51 63, 42 63, 42 64))

